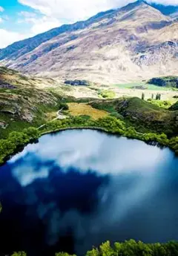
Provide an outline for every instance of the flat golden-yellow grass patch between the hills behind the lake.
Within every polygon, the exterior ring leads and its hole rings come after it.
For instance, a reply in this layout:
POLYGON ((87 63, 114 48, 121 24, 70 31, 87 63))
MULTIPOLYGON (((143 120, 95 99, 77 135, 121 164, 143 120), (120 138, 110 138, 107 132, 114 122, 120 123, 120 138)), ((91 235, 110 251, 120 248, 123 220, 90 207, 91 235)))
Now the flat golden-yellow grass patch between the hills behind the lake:
POLYGON ((72 116, 90 116, 95 120, 108 116, 107 111, 92 108, 92 106, 85 103, 68 103, 67 105, 72 116))

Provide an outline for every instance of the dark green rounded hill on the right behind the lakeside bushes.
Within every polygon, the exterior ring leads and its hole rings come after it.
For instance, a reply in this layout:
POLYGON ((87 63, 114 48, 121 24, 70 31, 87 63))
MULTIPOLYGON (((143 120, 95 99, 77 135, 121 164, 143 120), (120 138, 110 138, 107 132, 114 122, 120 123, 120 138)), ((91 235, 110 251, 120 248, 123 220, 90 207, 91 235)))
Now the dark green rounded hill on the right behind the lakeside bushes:
POLYGON ((178 134, 178 111, 159 108, 136 97, 96 100, 90 104, 94 108, 121 115, 128 125, 133 125, 137 131, 164 132, 170 136, 178 134))

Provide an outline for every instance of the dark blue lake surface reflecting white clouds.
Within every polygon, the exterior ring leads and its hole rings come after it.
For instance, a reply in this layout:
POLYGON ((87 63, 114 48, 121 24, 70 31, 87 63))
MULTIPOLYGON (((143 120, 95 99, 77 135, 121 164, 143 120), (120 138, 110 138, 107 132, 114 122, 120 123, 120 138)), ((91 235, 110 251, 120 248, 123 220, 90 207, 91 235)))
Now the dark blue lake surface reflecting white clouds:
POLYGON ((41 137, 0 168, 0 255, 178 240, 178 158, 99 131, 41 137))

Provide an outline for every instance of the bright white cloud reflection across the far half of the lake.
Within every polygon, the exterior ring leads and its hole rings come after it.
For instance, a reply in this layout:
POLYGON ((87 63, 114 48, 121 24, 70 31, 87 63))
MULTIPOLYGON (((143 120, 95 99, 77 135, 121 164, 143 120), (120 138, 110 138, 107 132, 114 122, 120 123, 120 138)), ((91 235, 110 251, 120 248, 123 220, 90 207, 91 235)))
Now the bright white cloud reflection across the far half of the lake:
POLYGON ((82 173, 94 170, 102 175, 122 174, 123 172, 129 174, 131 169, 138 173, 142 172, 142 174, 144 173, 143 170, 145 173, 147 171, 151 173, 155 171, 155 166, 159 165, 164 158, 164 151, 160 151, 159 148, 140 141, 131 143, 131 140, 125 138, 119 140, 109 136, 103 138, 103 134, 99 134, 97 131, 92 133, 90 131, 65 131, 58 136, 50 137, 50 140, 47 138, 42 137, 39 144, 27 145, 23 152, 10 160, 10 163, 14 163, 22 157, 26 159, 24 166, 18 165, 14 172, 22 186, 33 183, 34 180, 43 177, 43 175, 46 177, 52 170, 49 168, 48 172, 36 171, 38 168, 30 166, 27 168, 27 176, 23 170, 28 162, 36 165, 34 156, 40 161, 45 159, 55 163, 66 172, 72 167, 77 168, 82 173), (69 134, 73 134, 73 136, 69 136, 69 134), (32 158, 27 155, 27 152, 30 152, 32 158))

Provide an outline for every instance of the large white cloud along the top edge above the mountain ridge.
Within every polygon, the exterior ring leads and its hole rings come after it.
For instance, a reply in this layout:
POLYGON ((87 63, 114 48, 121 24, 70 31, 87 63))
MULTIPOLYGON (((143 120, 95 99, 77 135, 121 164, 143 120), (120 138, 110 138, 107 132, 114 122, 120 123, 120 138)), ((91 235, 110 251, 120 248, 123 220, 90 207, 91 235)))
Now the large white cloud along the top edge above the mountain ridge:
MULTIPOLYGON (((135 0, 19 0, 21 4, 39 10, 45 16, 76 22, 101 11, 125 6, 135 0)), ((150 0, 159 4, 178 4, 178 0, 150 0)))

